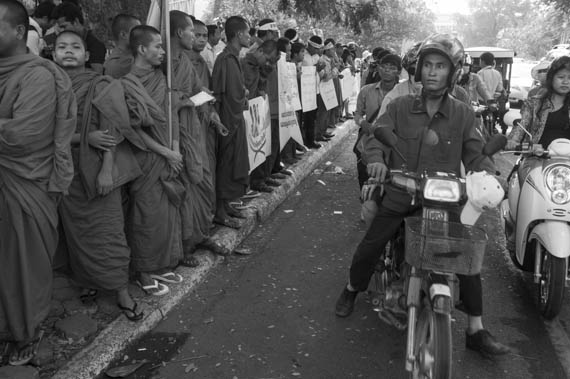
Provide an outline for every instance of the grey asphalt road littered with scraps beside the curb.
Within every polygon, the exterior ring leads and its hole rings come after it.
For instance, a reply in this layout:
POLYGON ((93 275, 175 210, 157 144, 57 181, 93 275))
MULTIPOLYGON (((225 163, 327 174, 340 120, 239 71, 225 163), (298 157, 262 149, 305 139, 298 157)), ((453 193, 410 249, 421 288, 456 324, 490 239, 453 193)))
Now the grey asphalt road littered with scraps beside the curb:
MULTIPOLYGON (((129 378, 407 378, 405 333, 383 324, 366 295, 349 318, 334 315, 364 233, 354 138, 244 242, 252 255, 228 257, 111 366, 149 361, 129 378), (342 174, 333 173, 338 167, 342 174)), ((504 161, 501 170, 508 170, 504 161)), ((545 323, 530 279, 503 250, 498 213, 488 212, 479 224, 490 237, 484 324, 513 353, 488 360, 467 351, 466 320, 455 311, 454 377, 566 378, 570 309, 545 323)))

